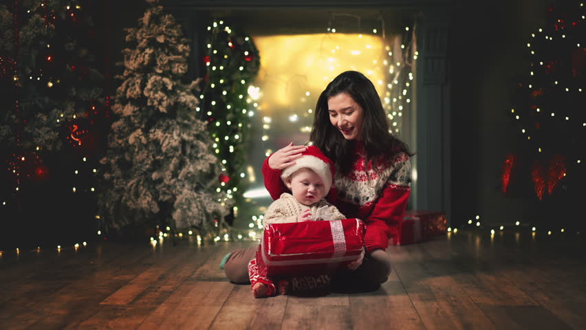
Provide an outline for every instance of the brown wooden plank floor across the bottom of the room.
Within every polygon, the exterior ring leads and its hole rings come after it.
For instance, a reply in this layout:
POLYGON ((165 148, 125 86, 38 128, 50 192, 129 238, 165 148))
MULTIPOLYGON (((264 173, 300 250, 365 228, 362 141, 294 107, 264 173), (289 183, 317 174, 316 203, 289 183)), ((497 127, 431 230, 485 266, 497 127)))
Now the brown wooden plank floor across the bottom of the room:
POLYGON ((376 292, 265 299, 218 267, 250 241, 5 251, 0 329, 586 329, 585 240, 561 235, 391 246, 376 292))

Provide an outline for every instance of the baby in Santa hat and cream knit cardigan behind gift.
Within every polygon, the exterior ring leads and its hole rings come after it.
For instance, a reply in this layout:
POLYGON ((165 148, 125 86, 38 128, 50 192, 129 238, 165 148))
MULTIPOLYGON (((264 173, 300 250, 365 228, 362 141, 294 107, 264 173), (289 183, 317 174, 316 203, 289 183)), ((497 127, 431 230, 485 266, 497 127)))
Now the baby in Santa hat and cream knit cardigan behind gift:
MULTIPOLYGON (((316 146, 308 146, 303 156, 295 160, 295 164, 283 169, 281 179, 291 193, 283 192, 279 199, 271 203, 265 213, 263 225, 323 220, 316 217, 318 213, 324 214, 324 212, 331 214, 328 220, 346 219, 336 206, 324 199, 332 186, 334 171, 334 163, 331 159, 327 158, 316 146), (317 212, 318 209, 319 212, 317 212)), ((356 269, 361 262, 362 260, 351 263, 349 268, 356 269)), ((276 288, 273 281, 259 274, 256 259, 248 263, 248 275, 254 298, 275 294, 276 288)), ((326 277, 329 280, 329 276, 326 277)), ((324 276, 318 276, 317 281, 321 281, 319 278, 323 280, 324 276)), ((278 286, 279 292, 286 294, 290 281, 279 281, 278 286)))

